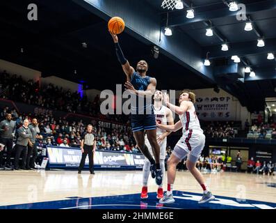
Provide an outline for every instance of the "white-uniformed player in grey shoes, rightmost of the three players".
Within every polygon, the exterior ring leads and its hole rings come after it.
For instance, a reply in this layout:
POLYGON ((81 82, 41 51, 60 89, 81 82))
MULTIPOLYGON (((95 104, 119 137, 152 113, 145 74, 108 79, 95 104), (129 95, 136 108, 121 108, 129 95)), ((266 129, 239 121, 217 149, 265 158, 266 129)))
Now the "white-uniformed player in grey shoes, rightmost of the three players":
POLYGON ((167 94, 164 95, 165 104, 179 115, 180 121, 174 125, 162 125, 157 123, 157 127, 163 130, 176 132, 183 128, 183 135, 174 147, 174 151, 168 160, 168 190, 164 194, 160 203, 174 203, 172 194, 172 187, 176 175, 177 164, 187 157, 186 167, 191 174, 195 177, 198 183, 200 183, 203 190, 203 197, 199 203, 206 203, 215 199, 213 194, 209 191, 205 180, 200 171, 195 167, 198 158, 202 153, 202 149, 205 144, 205 136, 200 128, 200 121, 197 118, 195 112, 195 94, 188 91, 182 91, 179 96, 179 106, 172 105, 169 102, 167 94))

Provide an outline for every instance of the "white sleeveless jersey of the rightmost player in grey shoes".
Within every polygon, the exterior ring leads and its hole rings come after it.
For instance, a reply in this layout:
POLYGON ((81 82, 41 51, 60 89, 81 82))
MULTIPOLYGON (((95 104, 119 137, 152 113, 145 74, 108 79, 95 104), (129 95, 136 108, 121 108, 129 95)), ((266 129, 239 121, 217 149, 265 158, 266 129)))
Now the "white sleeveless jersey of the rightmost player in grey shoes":
POLYGON ((179 116, 183 126, 183 134, 189 132, 189 130, 199 130, 203 133, 200 127, 200 121, 197 118, 197 112, 195 112, 195 106, 190 107, 183 115, 179 116))

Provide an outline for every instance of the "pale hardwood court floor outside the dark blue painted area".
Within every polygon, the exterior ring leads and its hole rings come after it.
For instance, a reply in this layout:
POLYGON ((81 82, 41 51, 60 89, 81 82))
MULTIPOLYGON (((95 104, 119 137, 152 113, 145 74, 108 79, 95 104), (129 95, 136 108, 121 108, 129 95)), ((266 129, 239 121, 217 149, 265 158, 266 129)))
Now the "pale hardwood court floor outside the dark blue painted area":
MULTIPOLYGON (((0 171, 0 206, 140 193, 142 171, 0 171)), ((219 172, 204 174, 214 195, 276 203, 276 176, 219 172)), ((167 180, 165 178, 166 189, 167 180)), ((202 193, 188 171, 177 171, 174 190, 202 193)), ((149 176, 149 192, 156 185, 149 176)))

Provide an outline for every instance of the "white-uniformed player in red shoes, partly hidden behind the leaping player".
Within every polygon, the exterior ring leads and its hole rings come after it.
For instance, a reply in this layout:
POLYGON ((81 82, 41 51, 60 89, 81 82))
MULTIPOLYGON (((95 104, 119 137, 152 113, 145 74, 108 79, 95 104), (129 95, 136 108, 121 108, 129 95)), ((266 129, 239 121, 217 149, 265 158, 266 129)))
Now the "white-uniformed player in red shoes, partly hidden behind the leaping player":
MULTIPOLYGON (((174 121, 172 118, 172 111, 162 105, 163 101, 163 93, 161 91, 156 91, 154 93, 154 114, 156 115, 156 122, 167 125, 173 125, 174 121)), ((167 146, 167 136, 170 134, 167 130, 162 130, 161 128, 157 128, 156 130, 156 137, 157 142, 160 146, 160 167, 162 171, 162 176, 165 173, 165 153, 166 153, 166 146, 167 146)), ((153 155, 152 146, 149 144, 149 140, 147 139, 147 135, 145 136, 145 145, 149 148, 149 153, 153 155)), ((149 180, 149 172, 150 172, 150 162, 145 157, 144 167, 143 167, 143 188, 141 192, 141 199, 147 199, 147 181, 149 180)), ((157 198, 161 199, 163 197, 163 183, 159 185, 157 190, 157 198)))

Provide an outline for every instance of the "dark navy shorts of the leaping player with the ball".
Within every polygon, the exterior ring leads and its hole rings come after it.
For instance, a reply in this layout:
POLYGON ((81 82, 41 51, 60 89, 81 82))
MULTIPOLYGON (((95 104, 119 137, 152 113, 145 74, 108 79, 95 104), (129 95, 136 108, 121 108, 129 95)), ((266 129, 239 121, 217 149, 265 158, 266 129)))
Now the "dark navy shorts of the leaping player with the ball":
POLYGON ((155 114, 131 114, 131 128, 133 132, 156 130, 155 114))

